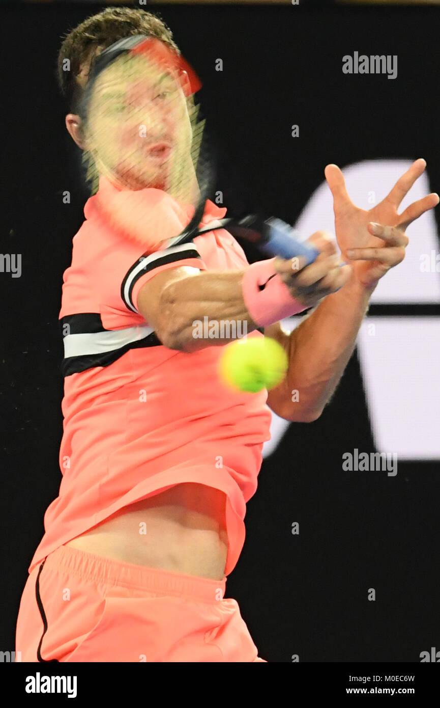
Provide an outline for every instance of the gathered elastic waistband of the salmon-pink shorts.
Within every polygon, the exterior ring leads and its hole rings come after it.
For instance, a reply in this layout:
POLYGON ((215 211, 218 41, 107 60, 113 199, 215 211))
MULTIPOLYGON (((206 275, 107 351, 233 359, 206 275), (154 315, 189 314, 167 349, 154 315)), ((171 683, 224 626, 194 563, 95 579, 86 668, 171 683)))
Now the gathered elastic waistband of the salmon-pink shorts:
POLYGON ((60 546, 46 559, 46 565, 62 566, 83 578, 109 585, 137 588, 151 593, 186 596, 189 599, 219 601, 224 598, 226 576, 211 580, 158 568, 125 563, 70 546, 60 546))

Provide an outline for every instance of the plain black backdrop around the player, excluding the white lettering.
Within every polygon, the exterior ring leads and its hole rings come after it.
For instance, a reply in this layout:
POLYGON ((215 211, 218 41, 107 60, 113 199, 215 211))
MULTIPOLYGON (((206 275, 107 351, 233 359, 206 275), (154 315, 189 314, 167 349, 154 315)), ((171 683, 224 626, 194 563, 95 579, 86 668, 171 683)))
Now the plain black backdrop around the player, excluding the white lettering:
MULTIPOLYGON (((5 651, 15 644, 28 565, 61 479, 57 318, 87 197, 79 150, 64 127, 55 62, 61 36, 101 8, 0 10, 0 251, 23 254, 21 278, 0 274, 5 651), (64 190, 70 205, 62 203, 64 190)), ((204 111, 221 142, 227 207, 260 207, 293 223, 326 164, 343 169, 376 157, 423 156, 431 189, 440 192, 439 9, 155 5, 151 11, 160 11, 204 83, 204 111), (398 78, 342 74, 342 55, 354 51, 398 55, 398 78), (221 73, 214 70, 218 57, 221 73), (293 123, 299 139, 290 136, 293 123)), ((347 476, 342 452, 354 447, 374 450, 356 354, 319 420, 289 426, 248 503, 245 547, 226 596, 238 600, 268 661, 289 662, 297 653, 311 662, 418 662, 421 651, 440 649, 439 464, 400 462, 395 477, 347 476), (295 521, 299 536, 291 535, 295 521), (367 600, 368 588, 376 589, 375 602, 367 600)))

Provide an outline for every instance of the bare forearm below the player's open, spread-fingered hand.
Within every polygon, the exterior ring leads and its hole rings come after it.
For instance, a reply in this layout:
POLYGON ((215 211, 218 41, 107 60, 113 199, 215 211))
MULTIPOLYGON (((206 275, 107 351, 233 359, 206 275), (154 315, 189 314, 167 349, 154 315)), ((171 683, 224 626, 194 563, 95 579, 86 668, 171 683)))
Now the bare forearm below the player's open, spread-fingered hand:
POLYGON ((308 420, 320 416, 352 356, 373 291, 352 276, 291 333, 289 371, 284 382, 287 400, 284 404, 280 401, 283 417, 297 420, 298 407, 307 411, 308 420))

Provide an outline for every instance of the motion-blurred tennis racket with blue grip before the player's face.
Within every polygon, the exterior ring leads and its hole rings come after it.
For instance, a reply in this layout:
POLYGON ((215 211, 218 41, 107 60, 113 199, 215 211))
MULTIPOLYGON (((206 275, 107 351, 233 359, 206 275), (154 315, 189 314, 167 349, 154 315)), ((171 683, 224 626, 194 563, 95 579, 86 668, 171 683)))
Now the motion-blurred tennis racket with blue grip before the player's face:
POLYGON ((201 86, 183 57, 146 35, 95 57, 79 115, 98 209, 145 255, 224 228, 266 256, 313 263, 319 251, 282 219, 253 214, 199 228, 216 176, 214 141, 193 99, 201 86))

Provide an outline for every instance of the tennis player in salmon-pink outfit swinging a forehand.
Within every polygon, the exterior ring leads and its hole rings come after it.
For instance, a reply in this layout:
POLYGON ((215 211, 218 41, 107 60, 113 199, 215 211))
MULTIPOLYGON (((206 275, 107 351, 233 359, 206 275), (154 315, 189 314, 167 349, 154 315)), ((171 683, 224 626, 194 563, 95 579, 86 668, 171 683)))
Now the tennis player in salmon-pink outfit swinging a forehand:
MULTIPOLYGON (((154 251, 139 268, 143 234, 130 238, 124 219, 118 228, 101 207, 128 188, 148 211, 152 188, 168 183, 170 155, 187 150, 191 91, 173 89, 170 110, 157 76, 139 91, 115 69, 103 79, 103 90, 112 89, 107 137, 93 136, 78 110, 91 62, 130 35, 178 52, 160 18, 132 8, 86 19, 59 52, 66 128, 93 156, 98 185, 64 273, 62 481, 29 567, 16 650, 26 662, 265 661, 236 600, 224 595, 243 548, 245 505, 257 488, 270 409, 288 421, 320 416, 371 293, 405 256, 407 224, 439 198, 428 195, 398 216, 424 170, 417 160, 386 200, 364 212, 349 200, 341 171, 328 165, 337 240, 349 265, 340 267, 324 232, 311 236, 320 251, 312 265, 295 270, 280 258, 249 265, 231 234, 214 229, 154 251), (127 96, 145 113, 142 171, 121 118, 127 96), (129 148, 126 161, 113 159, 115 146, 129 148), (100 164, 110 164, 112 179, 100 164), (308 307, 315 309, 285 333, 279 320, 308 307), (205 316, 279 341, 289 355, 284 381, 269 393, 226 389, 217 365, 229 340, 193 336, 194 322, 205 316), (292 389, 299 401, 292 402, 292 389)), ((185 208, 170 204, 165 226, 169 219, 183 229, 185 208)), ((201 224, 225 214, 209 201, 201 224)))

